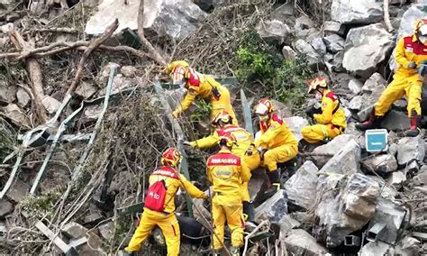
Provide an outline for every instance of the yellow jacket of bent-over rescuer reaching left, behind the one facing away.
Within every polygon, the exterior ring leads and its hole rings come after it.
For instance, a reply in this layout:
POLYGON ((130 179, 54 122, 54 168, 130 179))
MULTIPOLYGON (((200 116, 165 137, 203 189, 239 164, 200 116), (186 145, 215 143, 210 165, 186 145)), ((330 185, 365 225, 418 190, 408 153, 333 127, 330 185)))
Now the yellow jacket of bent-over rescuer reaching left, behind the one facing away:
POLYGON ((212 135, 190 142, 192 148, 206 149, 218 145, 220 142, 220 136, 224 133, 232 133, 236 138, 236 145, 232 146, 232 153, 242 157, 245 151, 250 147, 253 142, 252 135, 244 128, 234 124, 227 124, 223 128, 216 129, 212 135))

